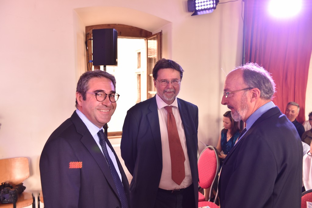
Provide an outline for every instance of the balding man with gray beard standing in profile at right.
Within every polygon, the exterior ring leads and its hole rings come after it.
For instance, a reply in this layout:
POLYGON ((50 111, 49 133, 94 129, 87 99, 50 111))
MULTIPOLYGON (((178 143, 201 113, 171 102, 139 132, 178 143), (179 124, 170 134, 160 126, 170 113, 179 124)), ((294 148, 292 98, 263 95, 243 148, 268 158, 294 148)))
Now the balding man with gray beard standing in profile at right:
POLYGON ((302 144, 271 101, 274 93, 272 77, 257 64, 237 67, 226 77, 221 103, 246 128, 222 165, 222 208, 300 207, 302 144))

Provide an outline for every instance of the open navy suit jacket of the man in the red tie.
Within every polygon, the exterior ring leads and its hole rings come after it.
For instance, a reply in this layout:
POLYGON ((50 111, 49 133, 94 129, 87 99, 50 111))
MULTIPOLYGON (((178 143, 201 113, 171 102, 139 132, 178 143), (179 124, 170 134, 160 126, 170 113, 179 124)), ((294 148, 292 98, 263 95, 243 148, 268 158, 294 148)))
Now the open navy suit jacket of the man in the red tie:
MULTIPOLYGON (((198 206, 197 129, 198 108, 178 98, 188 157, 190 161, 195 205, 198 206)), ((154 207, 162 172, 162 147, 156 97, 131 107, 124 120, 121 156, 133 176, 130 184, 131 206, 154 207)))

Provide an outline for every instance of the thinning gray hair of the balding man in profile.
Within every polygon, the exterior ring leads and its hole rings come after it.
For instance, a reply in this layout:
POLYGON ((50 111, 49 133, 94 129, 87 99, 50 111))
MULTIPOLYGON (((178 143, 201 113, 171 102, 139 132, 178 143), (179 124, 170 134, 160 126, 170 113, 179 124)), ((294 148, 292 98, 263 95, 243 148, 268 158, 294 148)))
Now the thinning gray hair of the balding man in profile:
POLYGON ((234 70, 243 71, 243 79, 247 87, 258 88, 260 97, 265 100, 272 100, 275 93, 275 83, 271 74, 256 63, 246 63, 234 70))

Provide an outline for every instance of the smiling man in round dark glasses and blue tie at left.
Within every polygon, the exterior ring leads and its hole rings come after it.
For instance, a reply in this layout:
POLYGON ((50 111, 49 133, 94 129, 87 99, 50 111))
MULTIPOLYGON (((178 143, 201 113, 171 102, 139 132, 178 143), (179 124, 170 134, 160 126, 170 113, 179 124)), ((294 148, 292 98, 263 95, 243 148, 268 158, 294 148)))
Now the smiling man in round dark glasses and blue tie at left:
POLYGON ((115 77, 95 70, 81 75, 76 111, 49 137, 40 157, 44 206, 129 207, 129 183, 103 132, 119 95, 115 77))

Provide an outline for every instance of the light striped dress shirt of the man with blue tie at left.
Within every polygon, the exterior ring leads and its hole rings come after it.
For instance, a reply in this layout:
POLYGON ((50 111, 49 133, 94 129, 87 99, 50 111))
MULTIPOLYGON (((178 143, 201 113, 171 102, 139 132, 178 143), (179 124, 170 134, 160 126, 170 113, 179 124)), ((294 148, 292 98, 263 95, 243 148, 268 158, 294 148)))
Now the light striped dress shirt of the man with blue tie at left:
MULTIPOLYGON (((101 152, 103 153, 103 150, 102 150, 102 146, 100 145, 100 139, 99 139, 99 136, 97 135, 97 133, 103 129, 103 127, 99 128, 97 126, 95 126, 81 111, 79 111, 78 109, 76 109, 76 113, 77 115, 79 116, 79 118, 82 120, 82 122, 84 122, 85 126, 87 126, 88 130, 90 131, 91 135, 93 136, 96 144, 99 146, 101 152)), ((106 144, 106 148, 107 148, 107 151, 108 151, 108 154, 110 156, 110 159, 113 161, 114 163, 114 166, 115 166, 115 169, 119 175, 119 178, 120 180, 122 181, 121 179, 121 174, 120 174, 120 171, 119 171, 119 168, 118 168, 118 164, 117 164, 117 160, 116 160, 116 157, 113 153, 113 151, 110 149, 110 147, 107 145, 106 141, 105 141, 105 144, 106 144)), ((104 153, 103 153, 104 155, 104 153)), ((105 158, 105 156, 104 156, 105 158)), ((106 159, 105 159, 106 161, 106 159)), ((107 162, 107 161, 106 161, 107 162)))

